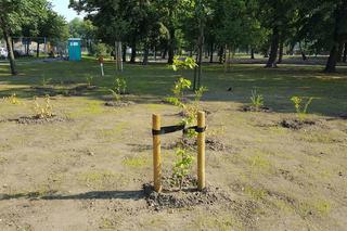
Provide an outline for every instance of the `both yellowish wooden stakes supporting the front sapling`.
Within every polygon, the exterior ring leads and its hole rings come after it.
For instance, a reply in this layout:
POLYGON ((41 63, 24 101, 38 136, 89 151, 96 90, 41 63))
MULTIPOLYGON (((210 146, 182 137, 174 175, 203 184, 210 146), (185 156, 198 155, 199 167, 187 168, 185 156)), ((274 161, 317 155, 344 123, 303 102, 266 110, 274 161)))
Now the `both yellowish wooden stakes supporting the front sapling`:
MULTIPOLYGON (((160 115, 153 114, 152 116, 153 131, 160 131, 160 115)), ((205 189, 205 112, 197 113, 197 189, 205 189)), ((153 176, 154 190, 162 191, 162 156, 160 156, 160 134, 153 133, 153 176)))

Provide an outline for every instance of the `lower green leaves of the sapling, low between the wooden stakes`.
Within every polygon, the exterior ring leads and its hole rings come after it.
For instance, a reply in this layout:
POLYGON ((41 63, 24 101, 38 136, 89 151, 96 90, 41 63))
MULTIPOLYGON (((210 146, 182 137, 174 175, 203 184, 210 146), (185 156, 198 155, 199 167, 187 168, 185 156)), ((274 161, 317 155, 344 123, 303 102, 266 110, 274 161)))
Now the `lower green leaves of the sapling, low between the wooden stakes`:
POLYGON ((182 189, 184 179, 190 174, 194 157, 187 149, 178 149, 176 151, 177 161, 174 164, 174 180, 182 189))

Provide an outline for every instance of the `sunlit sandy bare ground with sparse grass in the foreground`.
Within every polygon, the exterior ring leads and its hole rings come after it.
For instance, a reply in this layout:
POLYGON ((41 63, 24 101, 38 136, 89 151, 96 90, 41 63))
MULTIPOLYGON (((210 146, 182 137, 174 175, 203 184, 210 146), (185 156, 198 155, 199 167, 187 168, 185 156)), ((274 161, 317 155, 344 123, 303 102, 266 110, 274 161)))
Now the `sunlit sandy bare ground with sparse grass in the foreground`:
MULTIPOLYGON (((134 103, 54 97, 68 119, 42 124, 11 121, 30 111, 1 103, 0 230, 346 230, 346 120, 311 115, 316 125, 290 129, 281 121, 293 114, 204 102, 207 138, 226 146, 207 151, 207 182, 227 198, 155 210, 142 191, 152 181, 151 114, 164 125, 180 117, 160 100, 134 103)), ((166 171, 174 152, 163 150, 166 171)))

